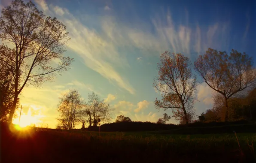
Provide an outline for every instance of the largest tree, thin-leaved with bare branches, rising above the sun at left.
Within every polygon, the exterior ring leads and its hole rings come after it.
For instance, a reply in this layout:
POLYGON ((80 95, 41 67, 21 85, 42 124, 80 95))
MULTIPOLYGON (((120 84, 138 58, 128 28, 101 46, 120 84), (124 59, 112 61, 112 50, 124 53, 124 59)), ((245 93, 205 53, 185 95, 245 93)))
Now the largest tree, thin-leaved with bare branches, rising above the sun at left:
POLYGON ((64 57, 64 45, 70 39, 66 26, 57 18, 46 17, 31 1, 12 1, 2 9, 0 39, 14 48, 0 45, 0 62, 11 70, 14 98, 9 123, 18 95, 26 85, 39 86, 52 81, 57 72, 67 70, 73 59, 64 57))

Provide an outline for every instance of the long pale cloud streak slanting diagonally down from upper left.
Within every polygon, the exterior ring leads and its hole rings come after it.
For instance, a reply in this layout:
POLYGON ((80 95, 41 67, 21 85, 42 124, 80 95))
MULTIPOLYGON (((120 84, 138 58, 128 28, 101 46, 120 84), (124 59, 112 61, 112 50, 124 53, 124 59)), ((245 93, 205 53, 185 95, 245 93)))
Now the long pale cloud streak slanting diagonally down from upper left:
POLYGON ((135 93, 128 80, 122 77, 112 66, 113 62, 119 66, 128 66, 127 61, 119 57, 119 53, 112 42, 104 39, 95 30, 91 30, 83 25, 67 9, 52 5, 48 6, 43 0, 39 2, 37 0, 37 3, 47 14, 51 13, 49 9, 55 11, 55 14, 59 15, 58 18, 67 25, 67 30, 72 38, 69 42, 69 48, 83 58, 86 66, 100 73, 105 78, 115 81, 117 85, 126 89, 131 94, 135 93), (64 16, 63 13, 65 13, 64 16))

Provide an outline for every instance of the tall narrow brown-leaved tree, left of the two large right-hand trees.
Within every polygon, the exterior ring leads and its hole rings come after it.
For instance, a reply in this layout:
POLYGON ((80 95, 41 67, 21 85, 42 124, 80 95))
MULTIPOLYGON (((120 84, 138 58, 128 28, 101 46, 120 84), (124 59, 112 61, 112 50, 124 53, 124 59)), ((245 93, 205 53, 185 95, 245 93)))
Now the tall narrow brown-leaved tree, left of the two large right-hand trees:
POLYGON ((192 76, 191 62, 183 54, 170 54, 165 51, 161 54, 158 63, 158 76, 153 84, 157 91, 162 92, 162 100, 155 100, 155 107, 171 108, 176 120, 185 118, 189 123, 187 114, 193 114, 195 90, 197 80, 192 76))

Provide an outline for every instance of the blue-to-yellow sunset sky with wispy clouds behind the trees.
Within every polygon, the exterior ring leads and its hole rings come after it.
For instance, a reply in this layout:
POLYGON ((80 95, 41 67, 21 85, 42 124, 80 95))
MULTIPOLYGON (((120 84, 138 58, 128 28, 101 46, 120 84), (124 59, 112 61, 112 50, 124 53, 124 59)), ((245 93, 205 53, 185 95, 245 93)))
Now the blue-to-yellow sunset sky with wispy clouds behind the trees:
MULTIPOLYGON (((172 115, 171 109, 154 107, 155 98, 161 97, 152 87, 161 53, 182 53, 192 63, 207 48, 228 52, 234 48, 250 56, 256 53, 255 0, 33 2, 45 15, 55 16, 67 26, 71 40, 64 55, 75 60, 55 82, 26 87, 20 95, 22 116, 37 117, 43 127, 55 128, 58 98, 69 89, 78 90, 85 101, 94 91, 110 103, 113 121, 124 115, 132 121, 156 122, 165 112, 172 115)), ((10 3, 1 0, 0 9, 10 3)), ((213 103, 212 90, 201 78, 198 81, 196 115, 213 103)), ((171 118, 168 123, 177 121, 171 118)))

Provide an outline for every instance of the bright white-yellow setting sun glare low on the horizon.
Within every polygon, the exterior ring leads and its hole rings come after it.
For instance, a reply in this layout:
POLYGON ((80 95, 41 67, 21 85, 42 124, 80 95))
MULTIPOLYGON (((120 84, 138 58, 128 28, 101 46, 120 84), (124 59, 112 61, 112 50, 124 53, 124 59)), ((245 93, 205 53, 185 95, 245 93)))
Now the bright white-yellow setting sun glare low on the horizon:
POLYGON ((42 123, 40 118, 44 117, 43 115, 31 115, 31 109, 29 108, 27 115, 21 115, 20 121, 19 117, 13 120, 13 124, 18 124, 20 127, 27 127, 27 126, 38 126, 38 124, 42 123))

